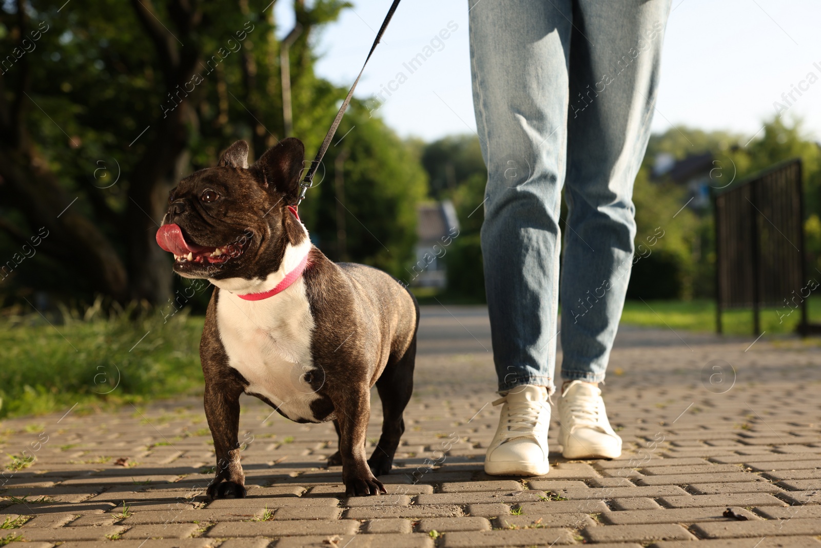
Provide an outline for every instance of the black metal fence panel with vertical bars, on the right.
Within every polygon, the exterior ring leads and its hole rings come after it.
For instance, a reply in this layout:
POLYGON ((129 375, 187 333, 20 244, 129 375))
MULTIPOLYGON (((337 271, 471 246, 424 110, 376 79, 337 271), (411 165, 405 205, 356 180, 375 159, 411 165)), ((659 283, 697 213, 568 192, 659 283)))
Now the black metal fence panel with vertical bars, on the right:
POLYGON ((761 334, 762 306, 800 308, 807 332, 804 198, 801 160, 779 163, 713 195, 716 229, 717 329, 722 311, 753 309, 753 334, 761 334))

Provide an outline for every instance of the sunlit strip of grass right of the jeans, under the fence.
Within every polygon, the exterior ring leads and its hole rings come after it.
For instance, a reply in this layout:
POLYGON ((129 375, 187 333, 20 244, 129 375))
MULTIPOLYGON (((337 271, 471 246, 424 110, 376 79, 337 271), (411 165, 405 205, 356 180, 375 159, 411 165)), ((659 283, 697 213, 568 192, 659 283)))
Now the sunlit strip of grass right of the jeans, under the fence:
MULTIPOLYGON (((761 330, 767 334, 791 334, 800 322, 800 311, 785 307, 763 308, 760 311, 761 330)), ((807 302, 810 322, 821 323, 821 297, 810 297, 807 302)), ((646 327, 684 329, 687 331, 715 332, 716 304, 708 299, 692 301, 627 301, 621 322, 646 327)), ((725 334, 751 335, 752 309, 734 309, 722 314, 725 334)))

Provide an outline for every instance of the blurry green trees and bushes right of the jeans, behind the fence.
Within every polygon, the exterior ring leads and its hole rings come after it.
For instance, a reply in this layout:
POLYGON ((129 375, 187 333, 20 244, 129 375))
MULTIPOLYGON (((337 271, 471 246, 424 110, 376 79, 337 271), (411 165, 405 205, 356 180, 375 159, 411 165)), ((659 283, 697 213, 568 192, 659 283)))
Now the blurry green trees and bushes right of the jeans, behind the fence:
POLYGON ((732 188, 755 173, 787 159, 803 163, 805 192, 805 247, 810 268, 821 268, 821 149, 805 136, 800 120, 791 123, 773 118, 764 123, 758 136, 740 136, 726 131, 701 131, 675 127, 650 137, 647 154, 636 177, 633 200, 636 207, 636 248, 646 242, 655 226, 664 237, 651 248, 652 254, 633 268, 628 298, 713 297, 715 243, 710 210, 696 214, 690 208, 672 214, 686 202, 684 189, 672 182, 651 182, 649 173, 656 154, 668 153, 676 159, 709 152, 713 170, 709 173, 714 189, 732 188))

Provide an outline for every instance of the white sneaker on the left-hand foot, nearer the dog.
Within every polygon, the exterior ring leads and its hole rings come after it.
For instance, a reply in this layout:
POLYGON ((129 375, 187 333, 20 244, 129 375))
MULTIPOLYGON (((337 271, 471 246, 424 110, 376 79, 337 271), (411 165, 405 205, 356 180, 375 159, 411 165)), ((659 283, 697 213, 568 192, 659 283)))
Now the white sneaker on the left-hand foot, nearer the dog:
POLYGON ((542 476, 550 472, 548 389, 516 386, 493 405, 499 403, 499 427, 484 458, 484 472, 499 476, 542 476))

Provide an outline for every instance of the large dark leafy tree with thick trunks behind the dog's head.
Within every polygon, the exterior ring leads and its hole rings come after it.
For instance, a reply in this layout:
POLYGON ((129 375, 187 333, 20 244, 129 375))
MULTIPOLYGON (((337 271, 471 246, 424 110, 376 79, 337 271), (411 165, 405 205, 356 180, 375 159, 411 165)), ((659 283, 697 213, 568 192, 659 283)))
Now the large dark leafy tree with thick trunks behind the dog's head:
MULTIPOLYGON (((294 3, 295 129, 310 151, 344 96, 314 76, 310 39, 347 6, 294 3)), ((3 4, 0 288, 164 302, 171 260, 154 232, 168 190, 236 138, 259 155, 282 137, 276 27, 262 1, 3 4)))

